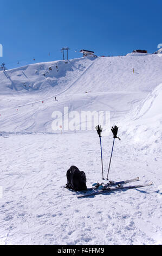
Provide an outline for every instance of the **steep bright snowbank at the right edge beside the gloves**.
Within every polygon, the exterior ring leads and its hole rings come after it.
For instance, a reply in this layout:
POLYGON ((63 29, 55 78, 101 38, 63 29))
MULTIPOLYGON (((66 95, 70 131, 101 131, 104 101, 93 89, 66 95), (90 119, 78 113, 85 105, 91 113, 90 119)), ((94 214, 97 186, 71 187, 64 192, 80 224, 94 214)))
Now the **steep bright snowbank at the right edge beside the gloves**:
POLYGON ((155 87, 124 120, 122 129, 129 139, 140 145, 142 149, 161 152, 162 142, 162 84, 155 87))

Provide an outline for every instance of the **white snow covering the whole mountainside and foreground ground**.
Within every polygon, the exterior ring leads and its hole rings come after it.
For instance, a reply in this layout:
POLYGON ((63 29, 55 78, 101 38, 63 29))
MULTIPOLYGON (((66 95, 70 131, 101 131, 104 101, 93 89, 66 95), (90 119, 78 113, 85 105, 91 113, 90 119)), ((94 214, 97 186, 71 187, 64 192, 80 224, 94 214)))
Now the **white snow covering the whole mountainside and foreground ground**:
MULTIPOLYGON (((161 245, 161 66, 157 54, 128 54, 0 71, 1 245, 161 245), (96 132, 53 131, 64 107, 110 111, 121 141, 109 179, 153 186, 82 199, 63 188, 72 165, 88 187, 102 181, 96 132)), ((112 143, 102 137, 105 176, 112 143)))

